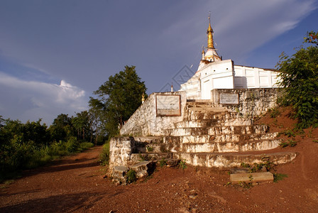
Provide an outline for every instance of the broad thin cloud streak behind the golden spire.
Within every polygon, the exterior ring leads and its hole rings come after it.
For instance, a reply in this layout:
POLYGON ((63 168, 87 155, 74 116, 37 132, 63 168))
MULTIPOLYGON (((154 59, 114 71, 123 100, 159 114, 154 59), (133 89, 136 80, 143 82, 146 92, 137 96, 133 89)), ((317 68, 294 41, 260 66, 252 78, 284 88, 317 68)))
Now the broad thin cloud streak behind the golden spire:
POLYGON ((162 35, 180 37, 178 40, 184 45, 199 43, 199 51, 202 44, 207 45, 205 31, 211 11, 216 48, 226 59, 243 59, 252 50, 295 28, 315 9, 314 0, 209 1, 172 21, 162 35))

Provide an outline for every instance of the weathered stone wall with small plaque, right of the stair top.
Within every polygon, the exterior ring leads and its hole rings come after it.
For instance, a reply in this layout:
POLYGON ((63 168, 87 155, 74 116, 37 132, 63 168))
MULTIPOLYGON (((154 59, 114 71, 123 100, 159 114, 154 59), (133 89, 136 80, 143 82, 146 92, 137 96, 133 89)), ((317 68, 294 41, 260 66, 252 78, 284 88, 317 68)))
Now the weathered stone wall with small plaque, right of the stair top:
POLYGON ((258 89, 213 89, 212 102, 237 112, 242 117, 254 117, 265 114, 276 107, 277 88, 258 89), (238 104, 220 104, 220 94, 238 94, 238 104))

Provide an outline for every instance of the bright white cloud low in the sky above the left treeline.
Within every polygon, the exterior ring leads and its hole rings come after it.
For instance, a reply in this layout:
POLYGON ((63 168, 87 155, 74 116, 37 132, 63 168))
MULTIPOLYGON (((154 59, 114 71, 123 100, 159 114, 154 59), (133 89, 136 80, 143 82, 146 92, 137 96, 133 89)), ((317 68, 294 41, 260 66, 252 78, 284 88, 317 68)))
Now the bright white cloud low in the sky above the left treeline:
POLYGON ((87 109, 85 92, 64 80, 59 84, 21 80, 0 72, 0 115, 50 125, 58 114, 87 109))

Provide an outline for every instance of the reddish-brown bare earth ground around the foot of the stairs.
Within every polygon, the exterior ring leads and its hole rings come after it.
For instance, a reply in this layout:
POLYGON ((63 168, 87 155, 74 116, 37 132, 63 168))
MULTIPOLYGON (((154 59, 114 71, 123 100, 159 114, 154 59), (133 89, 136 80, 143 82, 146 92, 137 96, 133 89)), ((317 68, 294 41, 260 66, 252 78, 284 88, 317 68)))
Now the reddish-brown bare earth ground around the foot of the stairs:
MULTIPOLYGON (((258 122, 282 131, 294 122, 287 114, 258 122)), ((295 147, 276 149, 298 153, 276 167, 288 177, 249 189, 226 186, 227 171, 192 167, 158 168, 148 180, 116 186, 103 178, 98 146, 2 185, 0 212, 318 212, 318 129, 295 141, 295 147)))

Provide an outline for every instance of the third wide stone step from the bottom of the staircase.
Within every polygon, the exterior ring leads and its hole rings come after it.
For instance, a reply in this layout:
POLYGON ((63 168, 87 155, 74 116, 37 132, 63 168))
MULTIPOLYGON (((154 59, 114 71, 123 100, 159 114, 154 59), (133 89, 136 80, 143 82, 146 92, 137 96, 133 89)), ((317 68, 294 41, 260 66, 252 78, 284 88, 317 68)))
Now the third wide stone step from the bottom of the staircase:
POLYGON ((260 141, 277 138, 278 133, 251 133, 251 134, 221 134, 221 135, 194 135, 194 136, 165 136, 164 143, 221 143, 260 141))

